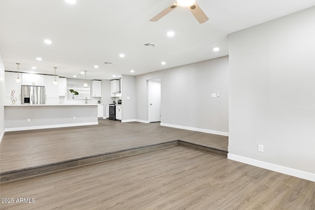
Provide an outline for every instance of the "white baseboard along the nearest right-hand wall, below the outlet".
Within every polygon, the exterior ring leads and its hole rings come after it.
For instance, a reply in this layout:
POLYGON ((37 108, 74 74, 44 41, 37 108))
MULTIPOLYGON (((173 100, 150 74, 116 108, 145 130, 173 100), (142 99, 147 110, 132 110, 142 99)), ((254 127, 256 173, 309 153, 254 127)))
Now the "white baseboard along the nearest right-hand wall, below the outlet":
POLYGON ((312 174, 309 172, 300 171, 300 170, 296 170, 296 169, 292 169, 292 168, 288 168, 288 167, 284 167, 280 165, 275 165, 272 163, 267 163, 260 160, 255 160, 255 159, 251 159, 251 158, 247 158, 247 157, 243 157, 243 156, 239 156, 235 154, 230 154, 230 153, 227 154, 227 159, 235 160, 241 163, 246 163, 252 166, 257 166, 259 168, 268 169, 271 171, 279 172, 279 173, 290 175, 293 177, 298 177, 304 180, 315 181, 315 174, 312 174))

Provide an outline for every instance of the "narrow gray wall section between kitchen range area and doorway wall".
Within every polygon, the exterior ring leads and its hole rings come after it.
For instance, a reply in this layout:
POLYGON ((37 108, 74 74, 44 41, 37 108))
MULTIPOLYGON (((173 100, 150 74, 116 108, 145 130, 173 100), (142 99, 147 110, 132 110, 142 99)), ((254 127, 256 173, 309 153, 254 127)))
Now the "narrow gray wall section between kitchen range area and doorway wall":
POLYGON ((122 121, 136 119, 136 77, 122 75, 122 121), (130 99, 127 99, 129 97, 130 99))

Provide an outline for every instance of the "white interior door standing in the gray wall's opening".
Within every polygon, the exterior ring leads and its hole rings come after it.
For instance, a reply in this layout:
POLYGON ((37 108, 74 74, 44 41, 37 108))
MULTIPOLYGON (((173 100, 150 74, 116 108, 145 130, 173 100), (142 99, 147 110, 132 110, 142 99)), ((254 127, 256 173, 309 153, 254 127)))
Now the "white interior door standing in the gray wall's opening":
POLYGON ((149 121, 161 121, 161 83, 149 81, 149 121))

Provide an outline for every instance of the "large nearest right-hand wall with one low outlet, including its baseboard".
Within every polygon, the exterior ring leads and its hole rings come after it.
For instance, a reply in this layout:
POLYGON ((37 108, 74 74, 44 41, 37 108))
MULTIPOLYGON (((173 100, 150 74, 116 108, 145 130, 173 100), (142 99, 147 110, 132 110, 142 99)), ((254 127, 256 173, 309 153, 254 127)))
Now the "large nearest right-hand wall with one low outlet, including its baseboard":
POLYGON ((228 157, 315 180, 314 7, 232 33, 229 45, 228 157))

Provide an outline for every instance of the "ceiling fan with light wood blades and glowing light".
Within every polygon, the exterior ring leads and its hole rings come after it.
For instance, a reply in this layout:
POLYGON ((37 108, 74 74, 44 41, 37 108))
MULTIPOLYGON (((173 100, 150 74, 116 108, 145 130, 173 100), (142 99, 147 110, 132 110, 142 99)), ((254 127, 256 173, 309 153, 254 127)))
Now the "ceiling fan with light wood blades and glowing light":
POLYGON ((202 11, 202 9, 198 6, 198 4, 195 2, 195 0, 177 0, 176 3, 171 4, 166 9, 158 13, 156 16, 154 16, 150 21, 156 22, 162 17, 164 17, 166 14, 177 8, 177 6, 187 6, 189 7, 190 12, 195 16, 197 21, 201 24, 209 20, 207 15, 202 11))

